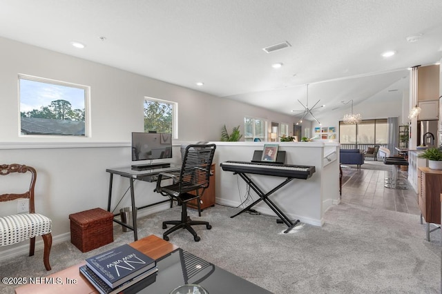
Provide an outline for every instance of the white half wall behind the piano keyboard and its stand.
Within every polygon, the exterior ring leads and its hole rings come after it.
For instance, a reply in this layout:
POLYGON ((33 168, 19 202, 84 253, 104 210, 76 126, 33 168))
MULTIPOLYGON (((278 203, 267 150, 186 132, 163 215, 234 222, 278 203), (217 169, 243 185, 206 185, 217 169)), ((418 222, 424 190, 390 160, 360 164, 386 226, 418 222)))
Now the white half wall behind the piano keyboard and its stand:
MULTIPOLYGON (((247 185, 239 175, 224 171, 220 167, 223 161, 251 161, 254 150, 262 150, 262 142, 215 142, 217 144, 214 162, 216 171, 216 201, 227 206, 239 206, 247 197, 247 185)), ((287 152, 286 164, 315 166, 316 172, 309 179, 293 179, 287 185, 269 197, 290 219, 314 226, 323 225, 325 210, 339 202, 339 168, 338 159, 324 166, 325 154, 330 149, 338 150, 338 144, 325 146, 322 142, 278 142, 279 150, 287 152), (325 153, 325 150, 327 150, 325 153), (327 169, 327 171, 325 171, 327 169)), ((284 177, 267 175, 249 175, 265 192, 282 183, 284 177)), ((251 191, 252 201, 259 199, 251 191)), ((238 212, 241 208, 238 208, 238 212)), ((260 202, 253 209, 267 215, 276 215, 267 204, 260 202)))

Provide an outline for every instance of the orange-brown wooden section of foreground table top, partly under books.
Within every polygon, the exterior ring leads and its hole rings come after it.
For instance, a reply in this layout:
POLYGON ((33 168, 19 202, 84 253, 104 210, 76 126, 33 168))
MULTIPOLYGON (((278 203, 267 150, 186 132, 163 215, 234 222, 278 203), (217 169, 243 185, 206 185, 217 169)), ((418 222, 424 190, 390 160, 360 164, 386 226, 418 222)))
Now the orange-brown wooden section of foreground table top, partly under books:
MULTIPOLYGON (((152 257, 153 259, 159 259, 164 255, 167 255, 178 248, 163 239, 150 235, 138 241, 132 242, 133 248, 141 251, 142 253, 152 257)), ((79 267, 84 265, 86 262, 81 262, 75 266, 70 266, 63 271, 57 273, 52 273, 48 275, 48 279, 51 277, 53 281, 61 281, 63 284, 27 284, 25 286, 20 286, 15 289, 17 294, 35 294, 35 293, 63 293, 63 294, 86 294, 86 293, 98 293, 95 287, 86 280, 83 275, 79 273, 79 267), (68 284, 68 282, 77 281, 76 284, 68 284)))

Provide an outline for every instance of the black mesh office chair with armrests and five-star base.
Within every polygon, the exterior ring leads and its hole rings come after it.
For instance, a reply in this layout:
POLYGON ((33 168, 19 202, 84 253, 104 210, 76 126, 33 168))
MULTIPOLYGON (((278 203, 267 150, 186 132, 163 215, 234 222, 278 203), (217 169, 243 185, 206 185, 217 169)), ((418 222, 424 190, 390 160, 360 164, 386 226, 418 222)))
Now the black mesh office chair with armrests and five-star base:
POLYGON ((209 222, 193 221, 187 215, 187 202, 198 199, 203 195, 204 190, 209 186, 210 168, 215 153, 215 144, 192 144, 186 146, 180 175, 171 175, 169 173, 160 173, 157 179, 155 191, 163 196, 171 197, 177 200, 181 208, 181 219, 163 222, 162 228, 167 228, 168 224, 173 224, 163 233, 163 239, 169 241, 170 233, 179 228, 186 228, 193 235, 195 242, 200 241, 197 233, 191 226, 205 225, 208 230, 212 228, 209 222), (161 186, 163 179, 173 179, 173 184, 161 186))

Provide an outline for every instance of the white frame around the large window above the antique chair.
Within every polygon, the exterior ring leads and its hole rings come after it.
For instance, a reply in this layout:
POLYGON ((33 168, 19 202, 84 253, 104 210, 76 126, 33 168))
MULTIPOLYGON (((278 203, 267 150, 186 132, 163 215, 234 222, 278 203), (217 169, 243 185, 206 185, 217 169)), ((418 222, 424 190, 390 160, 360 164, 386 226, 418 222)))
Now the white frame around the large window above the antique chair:
MULTIPOLYGON (((19 137, 57 137, 57 138, 87 138, 91 136, 91 130, 90 130, 90 86, 85 86, 81 84, 74 84, 67 81, 57 81, 55 79, 47 79, 44 77, 35 77, 32 75, 18 75, 17 80, 17 86, 18 86, 18 102, 19 102, 19 137), (57 86, 65 86, 68 88, 79 88, 81 90, 84 90, 84 135, 78 136, 78 135, 26 135, 21 133, 21 93, 20 93, 20 81, 22 79, 26 79, 28 81, 37 81, 39 83, 44 84, 52 84, 57 86)), ((66 101, 69 101, 68 99, 65 99, 66 101)))

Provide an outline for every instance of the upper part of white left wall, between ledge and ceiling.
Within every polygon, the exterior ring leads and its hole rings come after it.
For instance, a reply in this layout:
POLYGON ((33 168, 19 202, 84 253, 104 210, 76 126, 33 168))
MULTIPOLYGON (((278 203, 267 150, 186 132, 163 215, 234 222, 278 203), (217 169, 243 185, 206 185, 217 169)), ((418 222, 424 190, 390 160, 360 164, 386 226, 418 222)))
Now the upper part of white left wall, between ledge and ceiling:
MULTIPOLYGON (((220 99, 203 92, 133 74, 84 59, 28 46, 0 38, 0 123, 3 142, 41 141, 19 138, 17 75, 26 74, 91 87, 92 137, 63 141, 129 141, 132 131, 143 130, 144 97, 176 101, 179 104, 178 141, 218 141, 221 127, 244 126, 244 115, 285 121, 293 117, 264 108, 220 99)), ((241 128, 242 130, 244 128, 241 128)), ((45 141, 59 139, 45 139, 45 141)))

